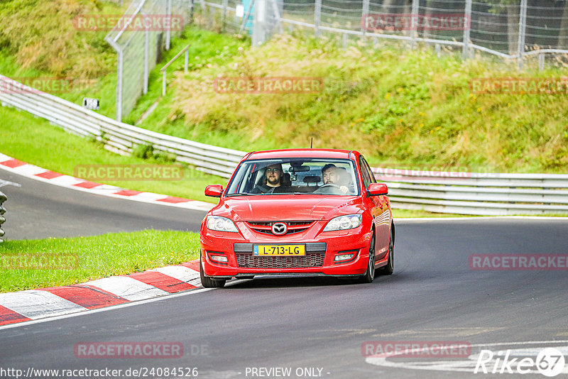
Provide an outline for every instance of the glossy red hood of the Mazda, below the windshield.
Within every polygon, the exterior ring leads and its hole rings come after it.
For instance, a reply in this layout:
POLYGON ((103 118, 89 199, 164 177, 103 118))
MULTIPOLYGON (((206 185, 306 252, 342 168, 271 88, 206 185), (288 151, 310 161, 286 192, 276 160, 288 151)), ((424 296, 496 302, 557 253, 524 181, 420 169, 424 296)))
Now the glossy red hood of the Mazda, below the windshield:
POLYGON ((343 214, 363 211, 359 197, 297 195, 230 197, 212 209, 215 216, 233 221, 329 220, 343 214))

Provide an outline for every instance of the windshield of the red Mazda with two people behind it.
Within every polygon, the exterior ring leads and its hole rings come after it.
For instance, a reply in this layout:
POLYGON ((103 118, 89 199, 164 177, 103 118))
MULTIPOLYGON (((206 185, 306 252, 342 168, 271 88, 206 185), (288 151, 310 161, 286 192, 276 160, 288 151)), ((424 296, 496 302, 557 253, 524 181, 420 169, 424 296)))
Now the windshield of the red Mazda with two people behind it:
POLYGON ((227 196, 271 194, 358 195, 352 160, 283 158, 246 160, 229 183, 227 196))

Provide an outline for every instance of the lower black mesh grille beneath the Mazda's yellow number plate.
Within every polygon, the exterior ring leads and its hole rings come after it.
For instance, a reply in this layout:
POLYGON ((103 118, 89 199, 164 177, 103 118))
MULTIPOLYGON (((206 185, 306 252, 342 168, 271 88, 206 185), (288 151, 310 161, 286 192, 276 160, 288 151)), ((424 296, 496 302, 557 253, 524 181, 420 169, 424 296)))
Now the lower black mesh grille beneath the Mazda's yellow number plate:
POLYGON ((306 253, 300 257, 259 257, 243 253, 235 255, 240 268, 309 268, 322 267, 325 253, 306 253))

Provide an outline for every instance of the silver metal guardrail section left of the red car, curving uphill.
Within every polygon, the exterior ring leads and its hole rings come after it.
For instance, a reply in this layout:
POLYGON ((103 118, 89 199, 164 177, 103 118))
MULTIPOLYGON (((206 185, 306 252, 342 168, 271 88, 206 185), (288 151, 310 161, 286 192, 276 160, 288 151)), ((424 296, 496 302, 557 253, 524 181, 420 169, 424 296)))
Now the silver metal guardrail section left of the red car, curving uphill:
POLYGON ((2 105, 28 111, 71 133, 96 138, 114 153, 128 155, 136 145, 152 145, 154 150, 175 155, 175 160, 221 177, 230 177, 236 163, 245 155, 243 151, 205 145, 115 121, 2 75, 0 82, 5 84, 0 87, 17 88, 10 93, 0 92, 2 105))

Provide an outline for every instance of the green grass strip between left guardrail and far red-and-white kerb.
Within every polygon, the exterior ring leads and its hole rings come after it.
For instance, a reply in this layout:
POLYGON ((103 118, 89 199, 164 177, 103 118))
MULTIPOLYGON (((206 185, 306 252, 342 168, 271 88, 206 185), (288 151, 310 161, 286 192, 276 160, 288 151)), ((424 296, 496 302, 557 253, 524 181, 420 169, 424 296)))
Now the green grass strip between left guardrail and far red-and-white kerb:
MULTIPOLYGON (((0 138, 1 153, 62 174, 74 175, 77 165, 170 164, 160 157, 141 159, 116 155, 105 150, 100 143, 72 135, 43 119, 5 106, 0 107, 0 119, 4 120, 0 138)), ((210 184, 225 185, 226 179, 184 166, 182 180, 99 182, 126 189, 215 202, 215 199, 204 195, 204 188, 210 184)))

